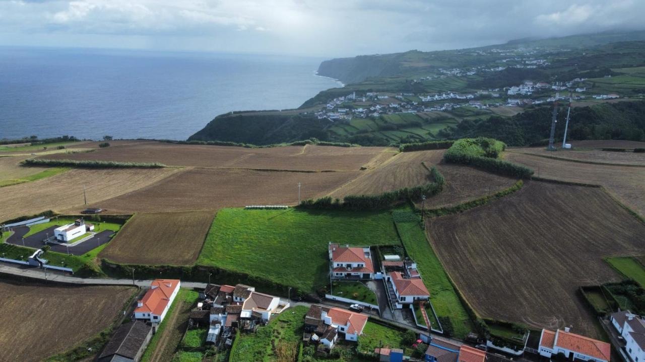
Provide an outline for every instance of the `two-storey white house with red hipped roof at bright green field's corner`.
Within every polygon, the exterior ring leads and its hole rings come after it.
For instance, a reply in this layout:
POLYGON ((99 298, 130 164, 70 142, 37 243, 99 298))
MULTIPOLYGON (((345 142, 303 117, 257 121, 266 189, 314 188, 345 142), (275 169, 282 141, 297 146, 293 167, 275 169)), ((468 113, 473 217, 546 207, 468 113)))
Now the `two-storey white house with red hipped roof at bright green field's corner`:
POLYGON ((329 244, 333 279, 373 279, 374 264, 369 247, 329 244))

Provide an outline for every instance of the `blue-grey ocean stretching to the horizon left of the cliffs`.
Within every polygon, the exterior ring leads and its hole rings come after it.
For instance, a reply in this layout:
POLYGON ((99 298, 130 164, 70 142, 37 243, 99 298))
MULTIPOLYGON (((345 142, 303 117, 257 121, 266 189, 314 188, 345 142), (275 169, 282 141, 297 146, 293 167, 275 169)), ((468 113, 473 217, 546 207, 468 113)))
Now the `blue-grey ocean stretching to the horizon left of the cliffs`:
POLYGON ((323 59, 0 47, 0 139, 185 140, 216 115, 297 108, 341 86, 323 59))

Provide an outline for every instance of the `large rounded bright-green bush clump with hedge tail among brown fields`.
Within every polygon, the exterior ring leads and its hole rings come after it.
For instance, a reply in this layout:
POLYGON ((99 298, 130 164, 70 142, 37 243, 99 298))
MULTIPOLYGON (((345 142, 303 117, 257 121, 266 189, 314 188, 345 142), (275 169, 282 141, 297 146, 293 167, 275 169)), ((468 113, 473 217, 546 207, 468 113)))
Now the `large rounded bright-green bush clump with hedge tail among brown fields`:
POLYGON ((533 175, 530 168, 497 158, 505 147, 504 142, 492 138, 461 138, 444 153, 444 160, 479 167, 503 176, 530 178, 533 175))

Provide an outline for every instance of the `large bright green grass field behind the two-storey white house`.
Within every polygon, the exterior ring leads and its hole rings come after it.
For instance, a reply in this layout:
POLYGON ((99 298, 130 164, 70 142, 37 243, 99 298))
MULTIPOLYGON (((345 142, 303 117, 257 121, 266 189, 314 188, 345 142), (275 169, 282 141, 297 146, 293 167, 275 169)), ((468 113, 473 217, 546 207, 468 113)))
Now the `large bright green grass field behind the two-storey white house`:
POLYGON ((399 244, 390 213, 221 209, 198 265, 312 292, 328 283, 328 243, 399 244))

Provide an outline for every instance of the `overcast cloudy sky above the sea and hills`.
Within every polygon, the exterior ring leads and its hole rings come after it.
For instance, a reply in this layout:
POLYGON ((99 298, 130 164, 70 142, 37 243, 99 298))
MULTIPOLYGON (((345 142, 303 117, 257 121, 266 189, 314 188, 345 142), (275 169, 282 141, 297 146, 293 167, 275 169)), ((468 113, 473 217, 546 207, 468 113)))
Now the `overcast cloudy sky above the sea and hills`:
POLYGON ((322 57, 645 28, 644 0, 0 0, 0 45, 322 57))

